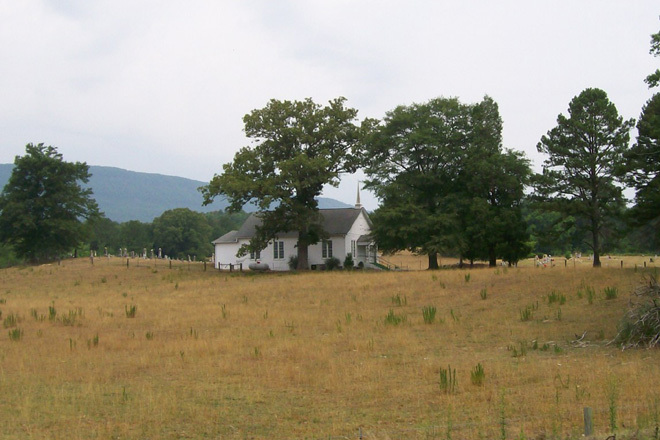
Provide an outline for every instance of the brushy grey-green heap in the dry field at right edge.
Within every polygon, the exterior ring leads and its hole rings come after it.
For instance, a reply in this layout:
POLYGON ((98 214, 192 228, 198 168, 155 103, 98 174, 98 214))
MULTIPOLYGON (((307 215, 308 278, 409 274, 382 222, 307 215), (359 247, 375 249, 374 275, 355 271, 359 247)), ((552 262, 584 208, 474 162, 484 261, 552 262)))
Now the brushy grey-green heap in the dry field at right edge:
POLYGON ((630 309, 619 324, 615 341, 623 348, 660 344, 660 286, 654 276, 638 287, 630 299, 630 309))

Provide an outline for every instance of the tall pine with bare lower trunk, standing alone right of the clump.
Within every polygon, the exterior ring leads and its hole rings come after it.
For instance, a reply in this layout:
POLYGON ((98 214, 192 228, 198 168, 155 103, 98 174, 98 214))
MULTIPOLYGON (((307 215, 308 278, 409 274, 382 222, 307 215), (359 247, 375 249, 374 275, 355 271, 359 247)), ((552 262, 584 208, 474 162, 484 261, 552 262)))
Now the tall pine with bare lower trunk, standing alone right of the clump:
POLYGON ((568 117, 557 117, 557 126, 537 145, 548 157, 543 174, 535 177, 535 196, 545 210, 587 220, 598 267, 604 229, 624 208, 622 186, 616 182, 625 175, 624 153, 634 120, 624 121, 600 89, 574 97, 568 112, 568 117))

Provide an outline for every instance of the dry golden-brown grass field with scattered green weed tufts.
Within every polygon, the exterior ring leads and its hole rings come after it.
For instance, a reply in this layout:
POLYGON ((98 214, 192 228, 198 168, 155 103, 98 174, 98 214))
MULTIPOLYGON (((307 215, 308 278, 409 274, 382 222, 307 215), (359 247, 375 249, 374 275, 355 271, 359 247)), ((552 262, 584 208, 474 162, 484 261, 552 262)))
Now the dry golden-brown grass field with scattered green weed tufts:
POLYGON ((591 407, 595 438, 657 438, 660 351, 607 344, 655 266, 620 261, 1 270, 0 437, 563 439, 591 407))

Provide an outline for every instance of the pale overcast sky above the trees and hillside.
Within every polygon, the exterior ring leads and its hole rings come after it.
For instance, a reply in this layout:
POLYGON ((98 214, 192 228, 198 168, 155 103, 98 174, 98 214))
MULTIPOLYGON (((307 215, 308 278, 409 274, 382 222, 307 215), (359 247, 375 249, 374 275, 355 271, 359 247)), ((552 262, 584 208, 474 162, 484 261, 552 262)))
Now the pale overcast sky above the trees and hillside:
MULTIPOLYGON (((338 96, 359 117, 491 96, 504 144, 536 144, 588 87, 625 118, 660 29, 656 0, 0 0, 0 163, 67 161, 209 181, 270 99, 338 96)), ((633 134, 634 135, 634 134, 633 134)), ((359 176, 325 196, 355 200, 359 176)), ((369 209, 377 202, 362 193, 369 209)))

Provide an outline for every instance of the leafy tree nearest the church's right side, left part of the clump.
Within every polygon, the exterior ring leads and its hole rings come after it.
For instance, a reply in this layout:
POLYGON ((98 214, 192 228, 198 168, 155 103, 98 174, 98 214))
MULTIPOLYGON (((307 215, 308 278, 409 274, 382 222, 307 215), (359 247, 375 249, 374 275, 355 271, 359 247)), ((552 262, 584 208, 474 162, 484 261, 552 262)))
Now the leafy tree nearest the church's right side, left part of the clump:
POLYGON ((398 106, 369 137, 367 188, 380 199, 373 233, 380 249, 428 255, 460 247, 454 194, 470 137, 470 109, 456 98, 398 106))

